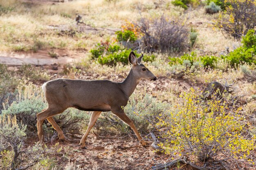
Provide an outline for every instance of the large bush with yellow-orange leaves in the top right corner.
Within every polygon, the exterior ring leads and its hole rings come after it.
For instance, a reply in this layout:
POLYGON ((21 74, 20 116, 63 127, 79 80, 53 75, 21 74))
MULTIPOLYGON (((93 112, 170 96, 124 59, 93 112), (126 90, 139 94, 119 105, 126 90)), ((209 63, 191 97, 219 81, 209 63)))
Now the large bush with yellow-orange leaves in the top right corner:
POLYGON ((241 38, 256 26, 254 0, 227 0, 229 6, 218 18, 217 26, 234 38, 241 38))

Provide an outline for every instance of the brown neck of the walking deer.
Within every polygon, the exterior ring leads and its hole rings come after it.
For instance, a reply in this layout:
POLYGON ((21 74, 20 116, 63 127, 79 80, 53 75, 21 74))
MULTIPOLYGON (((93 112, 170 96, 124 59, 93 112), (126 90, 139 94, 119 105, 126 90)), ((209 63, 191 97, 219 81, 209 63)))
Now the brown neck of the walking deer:
POLYGON ((124 93, 130 97, 132 95, 133 91, 135 90, 137 84, 139 83, 139 78, 135 77, 132 69, 130 70, 130 73, 124 80, 124 82, 121 82, 121 88, 124 91, 124 93))

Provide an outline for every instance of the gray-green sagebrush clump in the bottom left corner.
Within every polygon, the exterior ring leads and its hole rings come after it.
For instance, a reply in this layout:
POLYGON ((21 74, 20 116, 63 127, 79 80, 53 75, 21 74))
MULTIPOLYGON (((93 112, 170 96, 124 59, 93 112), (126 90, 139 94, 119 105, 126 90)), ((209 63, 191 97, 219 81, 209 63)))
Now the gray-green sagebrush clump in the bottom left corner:
POLYGON ((49 149, 38 144, 26 146, 27 126, 17 121, 16 116, 0 116, 0 169, 27 169, 47 159, 49 149))

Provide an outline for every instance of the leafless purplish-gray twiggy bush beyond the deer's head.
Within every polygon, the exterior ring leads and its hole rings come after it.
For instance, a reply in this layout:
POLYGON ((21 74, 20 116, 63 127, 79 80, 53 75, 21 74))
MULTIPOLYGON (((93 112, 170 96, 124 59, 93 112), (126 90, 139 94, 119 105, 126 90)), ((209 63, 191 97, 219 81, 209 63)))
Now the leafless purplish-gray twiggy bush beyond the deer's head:
POLYGON ((188 47, 189 30, 180 22, 159 18, 141 18, 137 22, 141 32, 140 48, 147 52, 183 51, 188 47))

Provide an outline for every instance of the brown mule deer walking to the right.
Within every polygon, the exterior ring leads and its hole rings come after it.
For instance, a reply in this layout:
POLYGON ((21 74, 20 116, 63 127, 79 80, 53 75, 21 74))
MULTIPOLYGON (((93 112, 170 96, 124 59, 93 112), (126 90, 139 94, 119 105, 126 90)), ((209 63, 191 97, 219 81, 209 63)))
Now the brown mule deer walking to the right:
POLYGON ((136 58, 133 52, 130 53, 128 60, 132 64, 132 68, 123 82, 54 79, 43 84, 42 88, 48 102, 48 107, 36 115, 40 143, 44 143, 42 125, 45 119, 58 132, 59 139, 68 141, 52 116, 62 113, 67 108, 73 107, 79 110, 93 111, 89 126, 80 141, 81 148, 85 148, 85 139, 101 112, 107 111, 112 111, 112 113, 128 124, 135 132, 141 145, 146 147, 145 141, 142 139, 133 122, 124 113, 123 109, 127 105, 128 99, 140 79, 144 78, 154 81, 157 79, 148 68, 140 64, 142 57, 143 55, 136 58))

